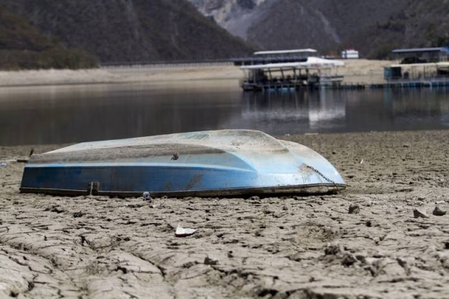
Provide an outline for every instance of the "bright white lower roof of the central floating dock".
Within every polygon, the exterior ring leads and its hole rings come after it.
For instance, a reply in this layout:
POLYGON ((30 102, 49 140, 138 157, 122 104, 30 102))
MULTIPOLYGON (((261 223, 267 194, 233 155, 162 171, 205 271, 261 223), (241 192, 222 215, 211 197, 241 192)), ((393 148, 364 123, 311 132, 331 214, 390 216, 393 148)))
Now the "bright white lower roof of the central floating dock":
POLYGON ((241 69, 324 69, 342 67, 344 62, 318 57, 309 57, 304 62, 268 63, 267 65, 243 65, 241 69))

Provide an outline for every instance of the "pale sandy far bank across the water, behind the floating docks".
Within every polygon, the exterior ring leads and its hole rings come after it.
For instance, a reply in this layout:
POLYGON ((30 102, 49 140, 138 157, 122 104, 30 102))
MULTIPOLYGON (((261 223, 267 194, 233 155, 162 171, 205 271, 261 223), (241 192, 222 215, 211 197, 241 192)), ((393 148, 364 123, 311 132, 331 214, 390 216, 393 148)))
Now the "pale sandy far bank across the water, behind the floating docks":
MULTIPOLYGON (((381 82, 383 68, 390 65, 382 60, 345 60, 340 69, 347 82, 381 82)), ((219 80, 243 78, 239 67, 187 66, 187 67, 119 67, 83 70, 39 70, 0 72, 0 86, 53 85, 53 84, 98 84, 124 82, 169 82, 186 80, 219 80)))

